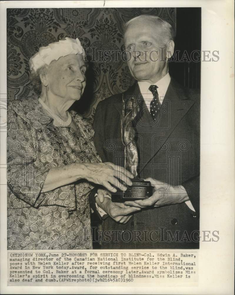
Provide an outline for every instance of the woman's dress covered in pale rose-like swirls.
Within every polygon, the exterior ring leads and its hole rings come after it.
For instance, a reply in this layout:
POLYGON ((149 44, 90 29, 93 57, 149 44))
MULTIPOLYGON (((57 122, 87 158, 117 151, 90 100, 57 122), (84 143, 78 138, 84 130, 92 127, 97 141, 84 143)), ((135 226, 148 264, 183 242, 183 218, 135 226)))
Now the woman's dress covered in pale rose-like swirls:
POLYGON ((8 249, 91 249, 93 188, 86 180, 42 192, 52 167, 99 163, 90 123, 71 111, 78 130, 55 127, 34 96, 8 104, 8 249))

